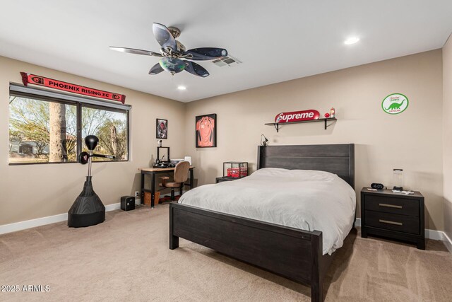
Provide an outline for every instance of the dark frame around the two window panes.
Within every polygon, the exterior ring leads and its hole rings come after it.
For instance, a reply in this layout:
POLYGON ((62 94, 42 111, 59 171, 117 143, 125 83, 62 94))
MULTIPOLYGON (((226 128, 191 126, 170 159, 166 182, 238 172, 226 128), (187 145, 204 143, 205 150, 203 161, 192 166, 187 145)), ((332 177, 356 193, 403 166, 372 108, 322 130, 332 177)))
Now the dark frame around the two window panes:
MULTIPOLYGON (((130 105, 124 105, 121 107, 123 108, 118 108, 119 106, 109 106, 111 103, 107 102, 107 101, 102 101, 102 100, 97 100, 97 99, 93 99, 93 98, 88 98, 88 97, 82 97, 80 95, 69 95, 68 93, 58 93, 55 91, 48 91, 49 95, 40 95, 40 94, 35 94, 33 93, 33 91, 44 91, 47 92, 47 89, 40 89, 40 88, 28 88, 25 86, 22 86, 20 84, 16 84, 16 83, 10 83, 10 90, 9 90, 9 96, 16 96, 19 98, 30 98, 33 100, 40 100, 43 102, 53 102, 53 103, 61 103, 61 104, 65 104, 65 105, 75 105, 76 106, 76 127, 77 127, 77 131, 76 131, 76 137, 77 137, 77 148, 76 148, 76 154, 77 154, 77 161, 54 161, 54 162, 37 162, 37 163, 10 163, 8 162, 8 165, 46 165, 46 164, 61 164, 61 163, 79 163, 78 162, 78 158, 80 156, 80 153, 82 152, 83 149, 83 137, 82 137, 82 108, 92 108, 92 109, 97 109, 97 110, 106 110, 106 111, 112 111, 112 112, 121 112, 121 113, 125 113, 126 114, 126 135, 127 135, 127 157, 126 159, 121 159, 121 160, 113 160, 113 161, 106 161, 106 160, 102 160, 102 161, 92 161, 93 163, 120 163, 120 162, 125 162, 125 161, 129 161, 130 160, 130 109, 131 106, 130 105), (11 86, 15 86, 15 87, 20 87, 20 91, 16 91, 11 89, 11 86), (25 90, 30 90, 30 92, 25 92, 25 90), (55 97, 56 95, 58 95, 58 98, 55 97), (66 98, 65 98, 66 97, 66 98), (68 100, 69 98, 69 100, 68 100), (83 102, 83 100, 86 100, 86 102, 83 102), (104 105, 105 103, 105 105, 104 105), (129 108, 129 109, 126 109, 129 108)), ((9 110, 9 107, 8 107, 9 110)), ((11 111, 8 111, 8 114, 11 114, 11 111)), ((8 117, 9 119, 9 117, 8 117)), ((8 122, 8 125, 10 124, 10 122, 8 122)), ((9 132, 9 130, 8 130, 9 132)), ((8 153, 9 154, 9 153, 8 153)), ((8 156, 8 161, 9 161, 9 156, 8 156)))

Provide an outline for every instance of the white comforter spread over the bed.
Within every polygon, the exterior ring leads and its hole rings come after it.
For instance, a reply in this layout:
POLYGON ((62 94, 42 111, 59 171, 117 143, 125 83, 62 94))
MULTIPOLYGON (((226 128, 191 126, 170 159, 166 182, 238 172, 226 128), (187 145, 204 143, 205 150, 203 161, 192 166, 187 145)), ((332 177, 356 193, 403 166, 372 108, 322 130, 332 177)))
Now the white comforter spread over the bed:
POLYGON ((338 175, 263 168, 246 178, 203 185, 179 203, 323 233, 323 255, 343 245, 355 219, 355 191, 338 175))

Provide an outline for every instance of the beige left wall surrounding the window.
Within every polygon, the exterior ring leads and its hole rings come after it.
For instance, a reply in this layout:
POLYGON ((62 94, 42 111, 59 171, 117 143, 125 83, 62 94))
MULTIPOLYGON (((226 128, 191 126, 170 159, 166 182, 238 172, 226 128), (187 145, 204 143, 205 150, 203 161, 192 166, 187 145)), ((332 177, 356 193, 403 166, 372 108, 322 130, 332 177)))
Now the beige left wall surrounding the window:
POLYGON ((66 213, 87 173, 87 166, 78 163, 8 165, 8 84, 21 83, 20 71, 126 95, 132 105, 130 161, 93 164, 93 186, 104 204, 138 190, 138 167, 148 167, 155 158, 156 117, 169 120, 164 145, 171 147, 172 157, 184 156, 184 133, 179 131, 185 126, 184 103, 0 57, 0 225, 66 213))

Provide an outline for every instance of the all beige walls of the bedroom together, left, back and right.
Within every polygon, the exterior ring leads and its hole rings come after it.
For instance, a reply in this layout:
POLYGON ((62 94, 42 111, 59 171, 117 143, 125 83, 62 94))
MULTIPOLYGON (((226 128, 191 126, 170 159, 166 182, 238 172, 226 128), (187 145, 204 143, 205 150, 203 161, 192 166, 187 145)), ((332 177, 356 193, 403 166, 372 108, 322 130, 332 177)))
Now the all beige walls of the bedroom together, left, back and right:
MULTIPOLYGON (((449 42, 444 62, 441 50, 434 50, 188 104, 0 57, 0 97, 8 99, 8 83, 20 83, 20 71, 126 95, 126 103, 133 106, 130 161, 93 165, 94 187, 104 204, 119 202, 122 195, 138 190, 137 168, 149 166, 155 158, 155 118, 162 117, 169 120, 165 145, 171 146, 172 158, 191 155, 200 185, 222 175, 223 161, 249 161, 255 170, 261 134, 270 144, 355 143, 357 192, 371 182, 390 187, 392 169, 403 168, 406 187, 426 197, 426 227, 443 230, 446 216, 450 236, 452 198, 446 183, 451 183, 452 158, 446 150, 452 148, 448 122, 452 114, 451 49, 449 42), (389 93, 407 95, 408 109, 400 115, 383 112, 381 100, 389 93), (277 134, 264 125, 279 112, 316 109, 323 114, 331 106, 336 108, 338 122, 327 130, 321 123, 293 124, 277 134), (208 113, 218 114, 218 147, 196 149, 194 119, 208 113)), ((76 163, 9 166, 8 103, 1 104, 0 140, 5 148, 0 149, 0 158, 4 158, 0 163, 0 225, 65 213, 81 191, 86 167, 76 163)))

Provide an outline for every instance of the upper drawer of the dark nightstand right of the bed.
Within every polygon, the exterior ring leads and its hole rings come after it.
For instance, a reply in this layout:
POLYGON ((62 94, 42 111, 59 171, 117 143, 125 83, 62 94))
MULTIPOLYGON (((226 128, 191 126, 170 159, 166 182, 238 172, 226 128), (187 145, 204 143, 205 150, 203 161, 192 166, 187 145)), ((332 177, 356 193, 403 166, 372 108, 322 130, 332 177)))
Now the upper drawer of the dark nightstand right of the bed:
POLYGON ((367 195, 365 207, 371 211, 419 216, 419 201, 416 199, 367 195))

